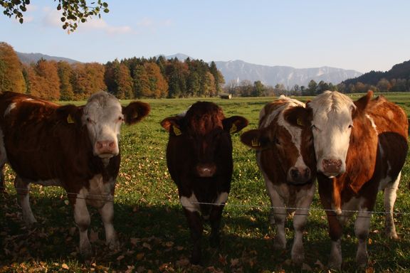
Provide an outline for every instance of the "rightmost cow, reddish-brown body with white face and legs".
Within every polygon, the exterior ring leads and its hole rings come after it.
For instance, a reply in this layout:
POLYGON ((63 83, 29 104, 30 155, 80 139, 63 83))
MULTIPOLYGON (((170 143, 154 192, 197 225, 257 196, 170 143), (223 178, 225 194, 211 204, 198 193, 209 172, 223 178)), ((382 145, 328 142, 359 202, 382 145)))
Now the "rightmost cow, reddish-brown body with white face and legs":
POLYGON ((324 92, 308 104, 317 159, 317 180, 327 210, 330 267, 342 265, 342 226, 357 210, 356 261, 367 266, 367 236, 377 192, 384 191, 387 235, 396 238, 393 206, 406 160, 409 123, 403 109, 373 92, 353 102, 339 92, 324 92))

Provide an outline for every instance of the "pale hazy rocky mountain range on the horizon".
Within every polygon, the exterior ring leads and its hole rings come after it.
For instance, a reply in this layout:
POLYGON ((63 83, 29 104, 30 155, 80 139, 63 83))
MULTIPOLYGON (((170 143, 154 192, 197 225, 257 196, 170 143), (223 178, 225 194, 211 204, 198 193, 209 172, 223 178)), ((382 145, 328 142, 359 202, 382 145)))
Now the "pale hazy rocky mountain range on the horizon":
POLYGON ((351 77, 362 75, 354 70, 344 70, 341 68, 292 68, 290 66, 268 66, 254 65, 243 62, 242 60, 233 60, 228 62, 215 62, 216 67, 224 75, 225 82, 241 82, 249 80, 255 82, 260 80, 264 85, 275 86, 283 84, 286 87, 294 85, 308 86, 310 80, 315 82, 332 82, 334 85, 351 77))

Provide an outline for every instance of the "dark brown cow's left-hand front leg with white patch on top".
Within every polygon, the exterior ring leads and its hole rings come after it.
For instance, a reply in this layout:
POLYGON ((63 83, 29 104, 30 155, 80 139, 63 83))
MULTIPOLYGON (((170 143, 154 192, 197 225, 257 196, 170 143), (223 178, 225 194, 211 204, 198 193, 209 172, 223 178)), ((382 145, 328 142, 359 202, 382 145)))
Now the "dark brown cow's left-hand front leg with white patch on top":
POLYGON ((191 232, 191 241, 193 245, 191 263, 199 264, 201 261, 201 237, 204 230, 201 215, 199 213, 199 203, 194 193, 191 193, 191 196, 189 197, 181 196, 179 200, 184 207, 184 213, 191 232))

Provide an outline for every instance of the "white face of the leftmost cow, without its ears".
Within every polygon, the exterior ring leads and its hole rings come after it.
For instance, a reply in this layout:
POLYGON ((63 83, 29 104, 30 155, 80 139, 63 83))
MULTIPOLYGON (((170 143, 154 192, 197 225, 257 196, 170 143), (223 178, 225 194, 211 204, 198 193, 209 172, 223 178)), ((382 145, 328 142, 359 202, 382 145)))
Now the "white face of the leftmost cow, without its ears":
POLYGON ((83 124, 87 125, 93 153, 102 159, 110 159, 119 153, 118 139, 124 116, 120 102, 107 92, 90 97, 84 107, 83 124))

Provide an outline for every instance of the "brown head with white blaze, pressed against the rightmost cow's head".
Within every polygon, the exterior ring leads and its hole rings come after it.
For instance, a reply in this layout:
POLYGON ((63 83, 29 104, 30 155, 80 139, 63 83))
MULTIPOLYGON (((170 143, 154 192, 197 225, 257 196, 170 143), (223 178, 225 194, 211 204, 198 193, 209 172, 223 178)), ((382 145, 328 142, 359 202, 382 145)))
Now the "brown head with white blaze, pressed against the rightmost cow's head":
POLYGON ((309 112, 303 105, 289 106, 284 106, 266 127, 243 133, 241 141, 252 149, 272 149, 279 161, 272 162, 274 168, 282 168, 288 183, 303 185, 312 181, 315 173, 309 112))

